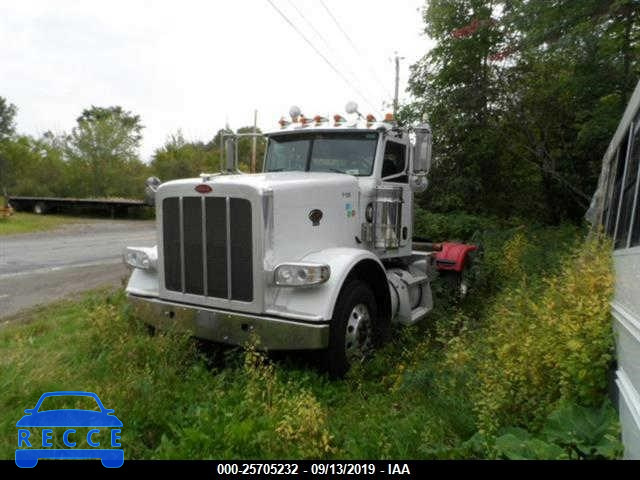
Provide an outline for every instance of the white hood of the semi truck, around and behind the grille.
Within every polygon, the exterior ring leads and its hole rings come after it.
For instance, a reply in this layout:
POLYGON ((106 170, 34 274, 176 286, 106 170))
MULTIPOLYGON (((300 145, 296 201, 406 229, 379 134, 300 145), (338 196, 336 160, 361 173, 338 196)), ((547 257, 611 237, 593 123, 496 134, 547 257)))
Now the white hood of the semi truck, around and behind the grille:
MULTIPOLYGON (((156 194, 159 228, 177 220, 165 219, 164 199, 197 197, 196 187, 211 187, 206 197, 244 198, 253 212, 254 267, 273 270, 278 264, 302 261, 327 248, 357 247, 361 231, 358 178, 342 173, 273 172, 216 175, 175 180, 160 185, 156 194)), ((165 230, 158 232, 162 238, 165 230)), ((161 250, 162 250, 161 241, 161 250)), ((160 251, 160 255, 163 252, 160 251)), ((257 270, 256 270, 257 271, 257 270)), ((254 275, 258 277, 258 273, 254 275)), ((258 292, 261 287, 255 285, 258 292)), ((217 300, 216 300, 217 301, 217 300)), ((226 300, 225 300, 226 301, 226 300)), ((260 308, 256 304, 255 308, 260 308)))

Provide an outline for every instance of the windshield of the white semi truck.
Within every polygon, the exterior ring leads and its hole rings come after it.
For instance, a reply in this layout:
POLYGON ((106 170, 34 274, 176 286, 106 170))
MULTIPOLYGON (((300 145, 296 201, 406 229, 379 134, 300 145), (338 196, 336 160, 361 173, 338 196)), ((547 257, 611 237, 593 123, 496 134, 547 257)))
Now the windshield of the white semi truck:
POLYGON ((337 172, 368 176, 377 133, 313 133, 269 139, 265 172, 337 172))

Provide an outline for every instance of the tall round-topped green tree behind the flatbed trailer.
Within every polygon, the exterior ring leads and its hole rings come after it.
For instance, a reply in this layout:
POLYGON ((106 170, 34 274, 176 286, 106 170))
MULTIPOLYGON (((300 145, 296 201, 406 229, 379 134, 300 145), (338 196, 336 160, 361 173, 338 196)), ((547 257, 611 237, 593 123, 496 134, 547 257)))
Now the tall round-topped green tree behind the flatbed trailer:
POLYGON ((66 138, 76 195, 141 196, 147 172, 137 149, 143 128, 138 115, 119 106, 84 110, 66 138))

